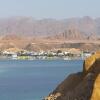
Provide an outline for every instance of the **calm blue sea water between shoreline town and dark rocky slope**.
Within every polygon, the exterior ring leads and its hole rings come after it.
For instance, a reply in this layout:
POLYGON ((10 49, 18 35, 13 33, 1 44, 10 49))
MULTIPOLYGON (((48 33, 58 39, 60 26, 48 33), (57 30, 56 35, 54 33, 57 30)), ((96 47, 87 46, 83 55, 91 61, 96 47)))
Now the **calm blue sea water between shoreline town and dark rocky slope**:
POLYGON ((1 60, 0 100, 42 100, 69 74, 82 70, 81 60, 1 60))

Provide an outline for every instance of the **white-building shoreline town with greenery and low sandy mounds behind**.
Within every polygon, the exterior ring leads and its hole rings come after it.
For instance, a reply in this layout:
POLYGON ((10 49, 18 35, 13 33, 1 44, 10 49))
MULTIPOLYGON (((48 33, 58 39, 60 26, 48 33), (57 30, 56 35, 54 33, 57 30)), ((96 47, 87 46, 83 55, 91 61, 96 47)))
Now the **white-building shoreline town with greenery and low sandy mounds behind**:
POLYGON ((94 52, 82 51, 75 48, 67 49, 53 49, 46 51, 27 51, 18 48, 9 48, 0 51, 0 59, 13 59, 13 60, 73 60, 85 59, 91 56, 94 52))

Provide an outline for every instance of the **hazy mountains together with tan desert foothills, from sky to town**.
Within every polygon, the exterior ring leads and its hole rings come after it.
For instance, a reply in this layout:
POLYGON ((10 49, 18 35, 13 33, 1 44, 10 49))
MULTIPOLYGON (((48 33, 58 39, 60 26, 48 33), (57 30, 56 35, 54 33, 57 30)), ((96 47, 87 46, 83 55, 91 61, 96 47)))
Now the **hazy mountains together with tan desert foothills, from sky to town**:
POLYGON ((0 50, 14 47, 27 50, 73 47, 84 50, 99 49, 100 18, 93 19, 89 16, 64 20, 1 18, 0 50))

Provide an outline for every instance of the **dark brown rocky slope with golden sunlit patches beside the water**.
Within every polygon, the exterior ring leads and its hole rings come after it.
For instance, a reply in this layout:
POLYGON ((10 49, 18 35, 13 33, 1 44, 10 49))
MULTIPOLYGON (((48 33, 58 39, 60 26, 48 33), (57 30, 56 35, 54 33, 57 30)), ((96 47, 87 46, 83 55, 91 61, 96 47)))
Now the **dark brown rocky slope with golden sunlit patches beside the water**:
POLYGON ((44 100, 100 100, 100 52, 87 58, 82 72, 69 75, 44 100))

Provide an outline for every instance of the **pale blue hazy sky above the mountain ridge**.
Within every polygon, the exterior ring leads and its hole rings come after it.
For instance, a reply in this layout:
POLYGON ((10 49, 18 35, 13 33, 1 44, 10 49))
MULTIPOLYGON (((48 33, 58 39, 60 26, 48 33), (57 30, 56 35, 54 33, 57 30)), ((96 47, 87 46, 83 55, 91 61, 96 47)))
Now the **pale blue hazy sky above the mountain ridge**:
POLYGON ((0 17, 100 17, 100 0, 0 0, 0 17))

